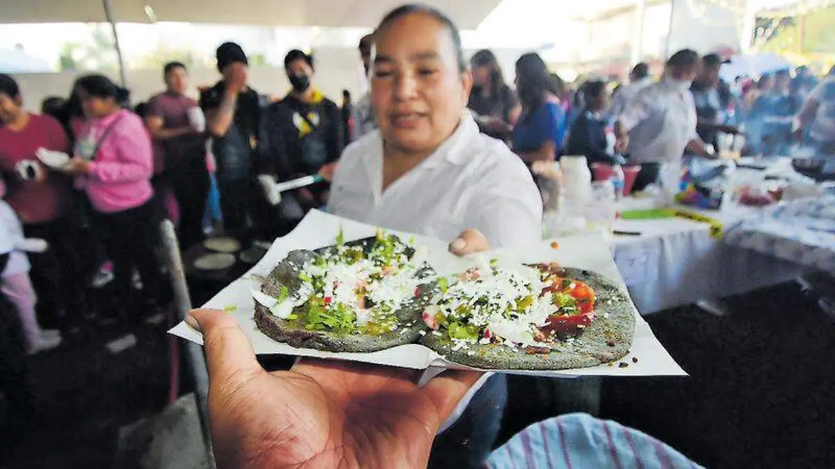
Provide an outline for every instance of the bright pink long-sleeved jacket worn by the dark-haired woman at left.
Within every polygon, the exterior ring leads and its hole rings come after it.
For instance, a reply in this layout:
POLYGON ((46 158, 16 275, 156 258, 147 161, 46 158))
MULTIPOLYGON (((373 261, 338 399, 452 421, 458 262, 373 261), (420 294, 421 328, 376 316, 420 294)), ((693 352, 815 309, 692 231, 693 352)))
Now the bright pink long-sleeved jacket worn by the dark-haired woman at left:
POLYGON ((154 195, 150 184, 154 170, 150 135, 142 119, 129 110, 90 119, 79 133, 75 155, 93 159, 90 173, 76 179, 76 186, 87 190, 97 211, 112 214, 134 209, 154 195), (111 124, 114 127, 104 135, 111 124), (99 139, 99 151, 91 155, 99 139))

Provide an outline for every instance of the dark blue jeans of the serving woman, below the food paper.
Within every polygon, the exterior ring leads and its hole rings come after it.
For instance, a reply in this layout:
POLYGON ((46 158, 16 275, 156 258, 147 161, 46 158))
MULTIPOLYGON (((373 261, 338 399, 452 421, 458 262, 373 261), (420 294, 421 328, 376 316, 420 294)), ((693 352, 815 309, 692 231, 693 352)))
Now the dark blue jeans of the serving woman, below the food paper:
POLYGON ((461 418, 435 437, 429 469, 483 467, 502 428, 507 401, 507 375, 490 376, 475 393, 461 418))

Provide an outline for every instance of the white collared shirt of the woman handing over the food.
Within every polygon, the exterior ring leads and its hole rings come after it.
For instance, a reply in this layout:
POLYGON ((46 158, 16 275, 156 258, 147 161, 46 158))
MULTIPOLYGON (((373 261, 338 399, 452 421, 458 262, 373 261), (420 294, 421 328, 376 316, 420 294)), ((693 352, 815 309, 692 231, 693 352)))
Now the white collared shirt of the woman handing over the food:
MULTIPOLYGON (((328 209, 349 219, 438 240, 481 231, 493 248, 539 242, 542 199, 527 168, 504 143, 478 133, 470 113, 438 149, 382 190, 379 130, 351 144, 337 166, 328 209)), ((441 426, 458 420, 486 373, 441 426)))

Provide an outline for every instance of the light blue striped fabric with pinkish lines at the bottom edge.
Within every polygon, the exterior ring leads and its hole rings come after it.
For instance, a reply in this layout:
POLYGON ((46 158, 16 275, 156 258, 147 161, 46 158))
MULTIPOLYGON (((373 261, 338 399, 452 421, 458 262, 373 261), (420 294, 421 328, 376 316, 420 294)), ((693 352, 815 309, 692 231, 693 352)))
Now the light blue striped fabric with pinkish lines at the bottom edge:
POLYGON ((498 447, 488 469, 700 469, 670 446, 588 414, 550 418, 498 447))

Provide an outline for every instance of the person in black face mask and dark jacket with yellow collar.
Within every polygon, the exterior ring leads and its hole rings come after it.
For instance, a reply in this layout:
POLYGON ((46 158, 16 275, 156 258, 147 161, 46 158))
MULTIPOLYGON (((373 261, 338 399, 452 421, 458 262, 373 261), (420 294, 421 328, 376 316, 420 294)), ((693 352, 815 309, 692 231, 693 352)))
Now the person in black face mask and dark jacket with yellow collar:
MULTIPOLYGON (((313 84, 313 58, 291 50, 284 58, 284 69, 292 88, 280 102, 266 108, 259 172, 272 174, 279 181, 320 173, 339 159, 343 147, 342 113, 337 103, 325 98, 313 84)), ((295 199, 304 211, 321 207, 327 201, 328 188, 328 183, 321 182, 296 189, 282 194, 282 203, 295 199)))

